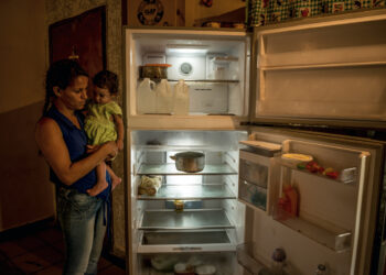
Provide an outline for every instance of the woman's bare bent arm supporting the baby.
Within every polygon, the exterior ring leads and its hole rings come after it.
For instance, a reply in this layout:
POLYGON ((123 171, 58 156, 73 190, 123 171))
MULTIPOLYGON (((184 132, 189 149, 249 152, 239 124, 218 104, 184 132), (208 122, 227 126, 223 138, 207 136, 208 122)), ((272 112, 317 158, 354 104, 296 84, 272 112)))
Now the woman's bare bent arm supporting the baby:
POLYGON ((37 122, 35 140, 44 158, 65 185, 72 185, 94 169, 107 156, 117 154, 116 143, 108 142, 89 156, 72 163, 62 131, 57 123, 50 118, 43 118, 37 122))

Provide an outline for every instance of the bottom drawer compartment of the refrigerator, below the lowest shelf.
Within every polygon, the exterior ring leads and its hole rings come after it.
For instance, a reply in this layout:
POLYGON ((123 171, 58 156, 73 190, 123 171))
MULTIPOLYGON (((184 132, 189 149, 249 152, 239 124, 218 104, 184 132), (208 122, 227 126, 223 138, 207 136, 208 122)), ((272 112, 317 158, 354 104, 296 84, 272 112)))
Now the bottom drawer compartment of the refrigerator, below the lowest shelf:
POLYGON ((216 252, 216 253, 184 253, 184 254, 142 254, 138 257, 140 266, 138 275, 173 275, 174 266, 178 263, 190 266, 191 273, 202 268, 200 266, 214 266, 213 275, 235 275, 238 272, 235 252, 216 252))

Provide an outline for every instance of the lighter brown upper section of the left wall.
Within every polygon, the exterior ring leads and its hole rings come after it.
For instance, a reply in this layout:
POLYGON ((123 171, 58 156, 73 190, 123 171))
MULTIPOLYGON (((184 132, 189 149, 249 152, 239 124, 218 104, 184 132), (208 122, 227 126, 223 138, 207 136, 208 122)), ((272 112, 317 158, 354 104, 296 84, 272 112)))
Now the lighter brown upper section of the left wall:
POLYGON ((44 0, 0 1, 0 113, 42 101, 44 0))

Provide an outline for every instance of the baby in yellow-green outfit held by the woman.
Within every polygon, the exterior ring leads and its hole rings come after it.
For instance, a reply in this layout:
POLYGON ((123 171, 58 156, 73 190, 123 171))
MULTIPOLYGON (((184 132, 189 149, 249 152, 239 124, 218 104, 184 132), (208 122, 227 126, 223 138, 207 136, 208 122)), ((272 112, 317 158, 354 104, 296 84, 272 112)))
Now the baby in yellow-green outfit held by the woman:
MULTIPOLYGON (((97 145, 108 141, 116 141, 118 150, 124 148, 122 111, 115 101, 118 94, 118 77, 109 70, 101 70, 93 78, 93 102, 87 106, 85 131, 89 144, 97 145)), ((111 189, 121 183, 112 169, 105 162, 96 167, 97 183, 88 189, 89 196, 97 196, 108 187, 106 169, 111 176, 111 189)))

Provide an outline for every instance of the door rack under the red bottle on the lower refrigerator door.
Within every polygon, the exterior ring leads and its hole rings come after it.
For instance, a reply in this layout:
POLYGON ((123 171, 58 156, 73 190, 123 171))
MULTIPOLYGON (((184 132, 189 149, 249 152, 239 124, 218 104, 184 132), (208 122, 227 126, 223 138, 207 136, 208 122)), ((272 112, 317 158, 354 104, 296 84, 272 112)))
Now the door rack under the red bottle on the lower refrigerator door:
POLYGON ((311 240, 335 251, 344 252, 351 248, 351 232, 329 224, 328 228, 309 222, 302 218, 290 217, 283 210, 276 210, 274 219, 283 226, 310 238, 311 240))

